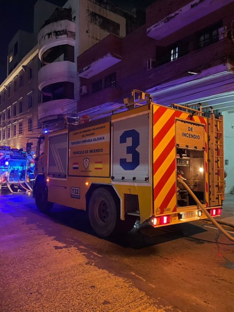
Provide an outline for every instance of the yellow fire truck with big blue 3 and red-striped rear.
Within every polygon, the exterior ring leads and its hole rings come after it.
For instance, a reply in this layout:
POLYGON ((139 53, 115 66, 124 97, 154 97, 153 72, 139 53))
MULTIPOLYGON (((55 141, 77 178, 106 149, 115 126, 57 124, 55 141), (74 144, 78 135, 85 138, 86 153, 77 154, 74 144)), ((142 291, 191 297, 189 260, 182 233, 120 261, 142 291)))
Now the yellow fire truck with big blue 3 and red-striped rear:
POLYGON ((219 216, 224 200, 223 117, 201 105, 172 107, 133 90, 120 112, 42 134, 33 196, 88 211, 102 237, 128 232, 139 219, 153 227, 219 216), (124 109, 123 109, 124 108, 124 109))

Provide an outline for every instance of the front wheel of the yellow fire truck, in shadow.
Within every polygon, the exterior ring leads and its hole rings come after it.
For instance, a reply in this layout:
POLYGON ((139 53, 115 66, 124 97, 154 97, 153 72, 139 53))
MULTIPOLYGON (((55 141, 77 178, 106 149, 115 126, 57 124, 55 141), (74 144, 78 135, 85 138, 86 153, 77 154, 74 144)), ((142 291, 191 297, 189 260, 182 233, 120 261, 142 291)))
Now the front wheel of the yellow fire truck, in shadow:
POLYGON ((45 182, 38 182, 35 188, 35 202, 40 212, 49 212, 53 206, 53 202, 48 202, 48 192, 45 182))

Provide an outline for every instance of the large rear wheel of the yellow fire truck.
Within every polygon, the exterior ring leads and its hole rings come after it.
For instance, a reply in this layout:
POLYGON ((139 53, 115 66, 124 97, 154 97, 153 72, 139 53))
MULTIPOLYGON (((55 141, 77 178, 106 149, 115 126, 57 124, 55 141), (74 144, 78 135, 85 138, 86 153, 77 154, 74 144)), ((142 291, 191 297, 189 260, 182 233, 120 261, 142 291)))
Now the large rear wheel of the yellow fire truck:
POLYGON ((94 232, 101 237, 115 234, 118 225, 118 204, 105 188, 97 188, 89 201, 89 221, 94 232))

